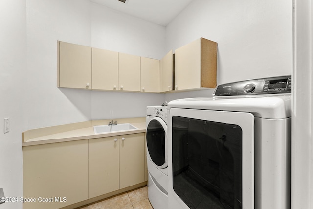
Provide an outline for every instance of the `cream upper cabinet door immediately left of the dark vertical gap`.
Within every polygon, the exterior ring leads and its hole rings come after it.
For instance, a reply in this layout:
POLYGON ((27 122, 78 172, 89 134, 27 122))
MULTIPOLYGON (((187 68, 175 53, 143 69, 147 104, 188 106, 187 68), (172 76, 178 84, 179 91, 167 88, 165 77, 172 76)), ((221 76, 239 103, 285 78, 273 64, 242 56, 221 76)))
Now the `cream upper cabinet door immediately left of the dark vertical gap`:
POLYGON ((160 92, 173 90, 173 53, 168 52, 160 61, 160 92))

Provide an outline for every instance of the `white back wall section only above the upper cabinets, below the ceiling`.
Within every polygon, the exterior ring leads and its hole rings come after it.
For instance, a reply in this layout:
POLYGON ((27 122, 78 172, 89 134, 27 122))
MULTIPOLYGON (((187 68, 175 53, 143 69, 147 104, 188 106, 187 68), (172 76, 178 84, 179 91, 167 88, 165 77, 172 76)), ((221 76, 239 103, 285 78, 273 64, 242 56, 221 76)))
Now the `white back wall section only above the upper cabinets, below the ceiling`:
POLYGON ((165 27, 91 4, 92 47, 161 59, 165 54, 165 27))

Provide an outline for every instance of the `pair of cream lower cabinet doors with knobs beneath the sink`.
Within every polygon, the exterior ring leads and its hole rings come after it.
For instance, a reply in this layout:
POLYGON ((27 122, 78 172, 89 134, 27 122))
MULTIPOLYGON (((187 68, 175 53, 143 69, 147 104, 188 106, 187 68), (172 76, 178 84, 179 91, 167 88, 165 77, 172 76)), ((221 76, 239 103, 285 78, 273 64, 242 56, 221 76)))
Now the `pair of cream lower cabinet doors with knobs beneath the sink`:
POLYGON ((144 133, 89 139, 89 198, 145 181, 144 133))

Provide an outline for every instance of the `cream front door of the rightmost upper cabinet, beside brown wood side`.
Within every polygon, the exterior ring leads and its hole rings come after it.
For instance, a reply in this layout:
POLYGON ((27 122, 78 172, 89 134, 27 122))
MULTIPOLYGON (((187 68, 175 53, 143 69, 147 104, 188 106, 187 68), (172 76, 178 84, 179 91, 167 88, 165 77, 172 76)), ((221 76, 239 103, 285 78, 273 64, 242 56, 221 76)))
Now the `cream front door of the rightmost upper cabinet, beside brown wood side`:
POLYGON ((200 41, 197 39, 175 50, 175 90, 201 87, 200 41))

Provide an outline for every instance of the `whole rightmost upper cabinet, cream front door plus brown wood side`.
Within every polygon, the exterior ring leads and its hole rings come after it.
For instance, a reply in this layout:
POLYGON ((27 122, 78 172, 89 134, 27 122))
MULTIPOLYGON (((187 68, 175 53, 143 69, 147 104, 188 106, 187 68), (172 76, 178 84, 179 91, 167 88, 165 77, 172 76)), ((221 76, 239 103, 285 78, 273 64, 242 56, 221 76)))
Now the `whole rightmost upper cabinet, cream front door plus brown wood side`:
POLYGON ((175 90, 216 87, 217 43, 200 38, 175 50, 175 90))

